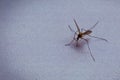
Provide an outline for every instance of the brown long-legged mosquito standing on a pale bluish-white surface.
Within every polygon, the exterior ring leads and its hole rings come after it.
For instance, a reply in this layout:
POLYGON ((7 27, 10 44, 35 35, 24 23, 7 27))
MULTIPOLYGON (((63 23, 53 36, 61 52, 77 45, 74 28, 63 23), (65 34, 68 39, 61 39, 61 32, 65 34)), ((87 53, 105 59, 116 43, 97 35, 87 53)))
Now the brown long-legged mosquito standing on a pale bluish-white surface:
POLYGON ((78 26, 78 24, 77 24, 77 22, 76 22, 76 20, 73 19, 73 21, 74 21, 74 23, 75 23, 75 25, 76 25, 77 31, 74 31, 74 30, 70 27, 70 25, 68 25, 69 29, 70 29, 72 32, 74 32, 74 37, 73 37, 73 40, 72 40, 70 43, 65 44, 65 46, 69 46, 69 45, 71 45, 71 44, 73 43, 73 41, 76 41, 76 47, 77 47, 77 46, 78 46, 78 41, 79 41, 79 40, 84 40, 84 41, 87 43, 88 49, 89 49, 89 51, 90 51, 90 56, 92 57, 93 61, 95 61, 95 58, 93 57, 92 52, 91 52, 91 49, 90 49, 90 47, 89 47, 88 40, 85 39, 84 36, 87 35, 87 36, 89 36, 89 37, 97 38, 97 39, 104 40, 104 41, 108 42, 108 41, 107 41, 106 39, 104 39, 104 38, 100 38, 100 37, 96 37, 96 36, 90 35, 90 34, 92 33, 92 29, 95 28, 95 26, 99 23, 99 21, 97 21, 90 29, 87 29, 87 30, 86 30, 86 29, 83 29, 83 28, 80 29, 79 26, 78 26))

